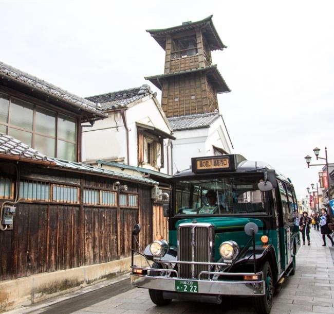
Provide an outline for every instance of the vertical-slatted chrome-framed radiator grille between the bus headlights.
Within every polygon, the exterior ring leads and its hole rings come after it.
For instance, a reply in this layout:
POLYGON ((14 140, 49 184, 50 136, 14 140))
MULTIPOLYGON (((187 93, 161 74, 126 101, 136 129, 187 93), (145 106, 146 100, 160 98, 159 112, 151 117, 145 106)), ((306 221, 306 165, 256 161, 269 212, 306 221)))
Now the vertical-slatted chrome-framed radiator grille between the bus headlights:
MULTIPOLYGON (((178 228, 178 256, 180 261, 213 260, 213 226, 209 223, 180 224, 178 228)), ((209 271, 208 265, 179 264, 181 278, 198 278, 201 271, 209 271)), ((202 275, 201 278, 208 276, 202 275)))

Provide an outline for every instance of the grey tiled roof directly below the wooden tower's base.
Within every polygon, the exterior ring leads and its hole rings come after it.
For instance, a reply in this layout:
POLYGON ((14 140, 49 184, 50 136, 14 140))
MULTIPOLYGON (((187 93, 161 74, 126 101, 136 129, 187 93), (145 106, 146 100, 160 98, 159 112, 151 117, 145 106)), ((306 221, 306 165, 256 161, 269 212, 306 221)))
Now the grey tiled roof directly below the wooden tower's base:
POLYGON ((209 128, 218 117, 218 113, 201 113, 168 118, 173 131, 209 128))

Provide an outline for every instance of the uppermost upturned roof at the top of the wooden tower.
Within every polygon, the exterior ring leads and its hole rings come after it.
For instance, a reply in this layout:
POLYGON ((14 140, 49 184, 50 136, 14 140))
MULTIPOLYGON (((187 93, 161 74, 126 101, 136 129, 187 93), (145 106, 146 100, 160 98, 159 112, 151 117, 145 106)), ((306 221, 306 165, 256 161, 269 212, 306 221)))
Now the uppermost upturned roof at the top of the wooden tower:
POLYGON ((212 16, 208 16, 208 18, 203 19, 197 22, 183 22, 182 25, 174 26, 170 28, 162 28, 162 29, 147 29, 146 31, 151 34, 151 36, 157 41, 157 43, 162 47, 163 50, 166 49, 166 37, 171 34, 175 34, 178 32, 186 32, 195 29, 202 29, 203 37, 208 42, 210 50, 223 50, 227 48, 221 39, 218 36, 218 33, 213 25, 212 16))

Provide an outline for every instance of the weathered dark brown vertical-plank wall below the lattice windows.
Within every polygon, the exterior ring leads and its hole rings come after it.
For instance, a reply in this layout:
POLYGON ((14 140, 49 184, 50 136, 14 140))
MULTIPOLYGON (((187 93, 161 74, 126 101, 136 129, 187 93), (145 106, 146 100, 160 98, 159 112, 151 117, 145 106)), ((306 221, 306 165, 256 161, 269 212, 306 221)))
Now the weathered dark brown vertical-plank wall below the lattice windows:
MULTIPOLYGON (((88 179, 81 180, 81 190, 85 186, 112 189, 112 180, 94 179, 89 183, 88 179)), ((13 230, 0 232, 0 281, 131 256, 131 232, 138 221, 144 230, 140 237, 147 245, 152 240, 151 186, 127 185, 130 193, 138 194, 142 218, 138 217, 139 208, 18 203, 13 230)))

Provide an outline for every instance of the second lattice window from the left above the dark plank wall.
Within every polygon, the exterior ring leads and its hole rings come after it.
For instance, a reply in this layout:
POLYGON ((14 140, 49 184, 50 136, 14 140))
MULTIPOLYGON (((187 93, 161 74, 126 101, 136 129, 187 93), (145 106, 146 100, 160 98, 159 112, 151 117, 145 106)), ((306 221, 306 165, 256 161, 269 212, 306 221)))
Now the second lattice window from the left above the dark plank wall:
POLYGON ((20 199, 50 201, 50 183, 31 180, 20 181, 20 199))

